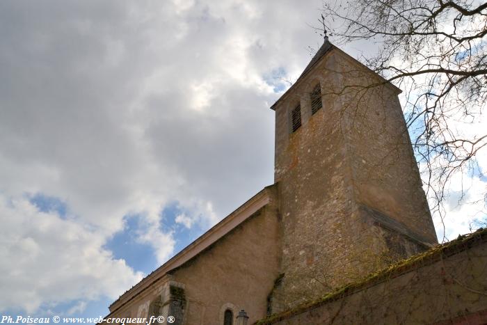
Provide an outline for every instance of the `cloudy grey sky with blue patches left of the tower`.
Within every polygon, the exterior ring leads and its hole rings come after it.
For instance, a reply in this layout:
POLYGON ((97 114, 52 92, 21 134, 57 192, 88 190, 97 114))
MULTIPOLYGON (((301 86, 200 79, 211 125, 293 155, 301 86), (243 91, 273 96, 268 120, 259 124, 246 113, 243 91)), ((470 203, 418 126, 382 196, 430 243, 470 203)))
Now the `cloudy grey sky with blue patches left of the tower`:
POLYGON ((1 1, 1 314, 106 315, 272 184, 269 106, 321 45, 319 8, 1 1))

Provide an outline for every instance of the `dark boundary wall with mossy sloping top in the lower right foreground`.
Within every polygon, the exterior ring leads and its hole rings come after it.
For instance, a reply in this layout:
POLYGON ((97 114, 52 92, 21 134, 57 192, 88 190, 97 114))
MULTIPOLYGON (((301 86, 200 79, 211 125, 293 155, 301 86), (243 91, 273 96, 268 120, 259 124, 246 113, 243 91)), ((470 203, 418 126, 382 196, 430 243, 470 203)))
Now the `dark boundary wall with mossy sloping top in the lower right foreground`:
POLYGON ((255 324, 487 324, 487 230, 255 324))

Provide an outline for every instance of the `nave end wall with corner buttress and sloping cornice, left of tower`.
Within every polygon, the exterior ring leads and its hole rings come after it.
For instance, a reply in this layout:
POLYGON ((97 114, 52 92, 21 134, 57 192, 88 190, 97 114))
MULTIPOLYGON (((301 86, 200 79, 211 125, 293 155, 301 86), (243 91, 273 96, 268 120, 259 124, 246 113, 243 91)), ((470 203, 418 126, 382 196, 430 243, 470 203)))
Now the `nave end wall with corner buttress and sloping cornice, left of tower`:
POLYGON ((258 193, 229 217, 253 206, 256 211, 250 210, 225 236, 179 266, 154 271, 137 294, 129 294, 136 286, 113 303, 110 317, 173 315, 173 324, 223 324, 225 310, 237 316, 241 309, 248 312, 250 324, 265 317, 269 292, 280 271, 277 203, 275 187, 258 193))

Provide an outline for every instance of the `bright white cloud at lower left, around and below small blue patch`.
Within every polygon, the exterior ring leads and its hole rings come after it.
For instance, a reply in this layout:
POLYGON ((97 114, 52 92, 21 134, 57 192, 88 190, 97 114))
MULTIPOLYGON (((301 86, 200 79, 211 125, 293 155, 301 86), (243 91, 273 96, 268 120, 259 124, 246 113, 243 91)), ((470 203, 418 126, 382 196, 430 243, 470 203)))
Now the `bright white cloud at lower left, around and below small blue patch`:
POLYGON ((25 198, 4 196, 0 216, 0 310, 35 312, 48 302, 115 299, 142 278, 125 261, 113 259, 102 248, 104 237, 83 223, 39 212, 25 198))

